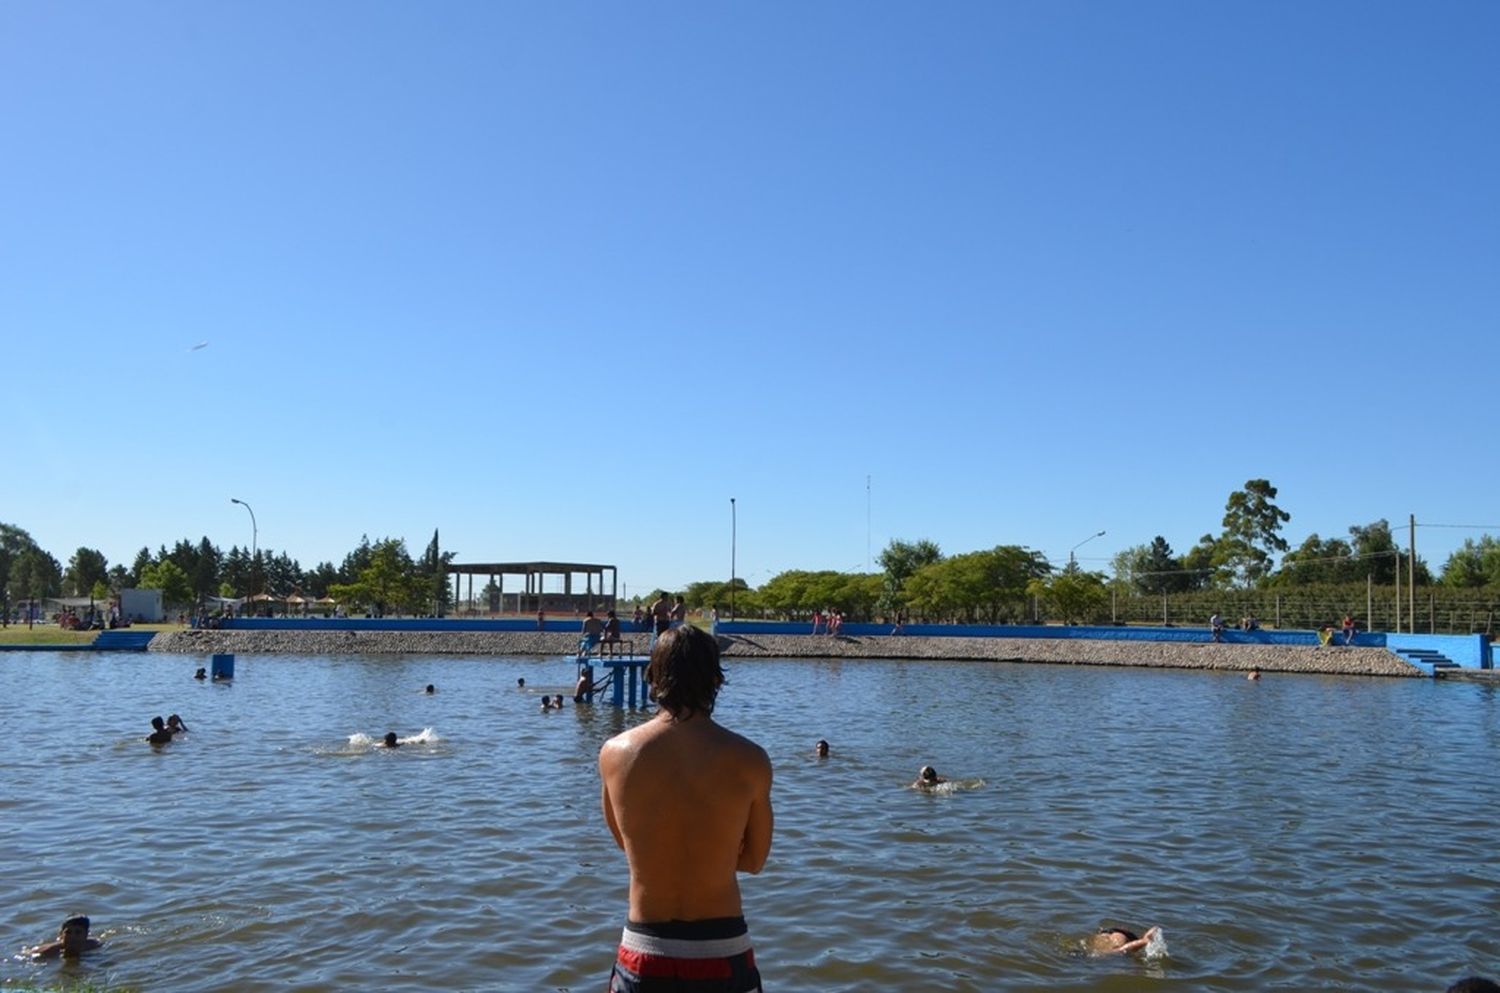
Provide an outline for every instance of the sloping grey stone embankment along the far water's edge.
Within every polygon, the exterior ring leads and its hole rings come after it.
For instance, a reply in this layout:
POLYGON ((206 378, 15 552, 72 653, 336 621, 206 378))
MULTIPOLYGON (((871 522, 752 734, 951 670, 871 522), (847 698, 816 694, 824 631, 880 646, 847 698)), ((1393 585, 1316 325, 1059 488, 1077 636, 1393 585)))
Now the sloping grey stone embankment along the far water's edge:
MULTIPOLYGON (((634 638, 645 652, 646 636, 634 638)), ((1214 645, 1047 638, 908 638, 822 634, 736 634, 720 639, 728 658, 945 658, 1046 662, 1080 666, 1228 669, 1366 676, 1420 676, 1420 669, 1384 648, 1302 645, 1214 645)), ((297 656, 562 656, 578 634, 555 632, 165 632, 152 651, 297 656)))

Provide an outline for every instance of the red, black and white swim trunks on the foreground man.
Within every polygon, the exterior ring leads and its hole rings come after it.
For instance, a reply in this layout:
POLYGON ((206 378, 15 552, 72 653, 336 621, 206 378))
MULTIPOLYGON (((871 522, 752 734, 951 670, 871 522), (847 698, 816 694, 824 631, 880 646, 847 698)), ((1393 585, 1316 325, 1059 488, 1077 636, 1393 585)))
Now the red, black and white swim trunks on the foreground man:
POLYGON ((760 993, 746 920, 628 921, 609 993, 760 993))

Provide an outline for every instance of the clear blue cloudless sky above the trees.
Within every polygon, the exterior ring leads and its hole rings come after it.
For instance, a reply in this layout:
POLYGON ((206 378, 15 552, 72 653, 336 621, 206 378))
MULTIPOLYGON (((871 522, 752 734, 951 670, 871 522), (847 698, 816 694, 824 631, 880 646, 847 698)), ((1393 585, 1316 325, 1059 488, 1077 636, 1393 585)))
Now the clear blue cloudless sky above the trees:
MULTIPOLYGON (((1500 519, 1500 4, 0 4, 0 520, 632 592, 1500 519), (196 351, 194 345, 207 342, 196 351), (868 489, 866 480, 870 480, 868 489)), ((1479 531, 1419 530, 1440 567, 1479 531)))

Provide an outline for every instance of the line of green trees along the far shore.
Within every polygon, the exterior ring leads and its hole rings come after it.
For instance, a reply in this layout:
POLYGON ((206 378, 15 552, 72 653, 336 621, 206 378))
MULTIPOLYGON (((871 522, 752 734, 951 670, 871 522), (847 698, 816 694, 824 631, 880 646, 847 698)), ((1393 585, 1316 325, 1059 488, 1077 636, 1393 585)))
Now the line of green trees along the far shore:
MULTIPOLYGON (((1467 538, 1437 578, 1426 562, 1401 550, 1389 522, 1352 525, 1347 537, 1310 534, 1299 546, 1282 537, 1292 514, 1276 506, 1276 488, 1246 480, 1224 506, 1218 534, 1204 534, 1184 554, 1161 536, 1119 550, 1108 574, 1070 561, 1058 567, 1034 549, 998 544, 944 555, 932 540, 892 540, 879 556, 879 573, 792 568, 759 588, 742 579, 700 580, 682 590, 693 609, 738 616, 802 618, 834 609, 850 620, 924 618, 963 622, 1030 620, 1080 621, 1110 616, 1122 597, 1196 592, 1290 591, 1406 584, 1455 591, 1500 592, 1500 540, 1467 538)), ((362 537, 344 561, 304 570, 286 552, 231 546, 225 554, 207 537, 142 548, 129 567, 80 548, 63 566, 15 525, 0 524, 0 592, 9 602, 93 596, 106 598, 130 586, 160 590, 170 604, 206 597, 261 592, 308 598, 333 597, 376 612, 446 614, 452 590, 438 532, 412 556, 404 538, 362 537)), ((645 600, 654 598, 660 591, 645 600)), ((1434 594, 1436 597, 1437 594, 1434 594)), ((638 598, 640 602, 640 598, 638 598)), ((1436 603, 1436 602, 1434 602, 1436 603)), ((1431 606, 1431 604, 1430 604, 1431 606)), ((1436 609, 1436 608, 1432 608, 1436 609)))

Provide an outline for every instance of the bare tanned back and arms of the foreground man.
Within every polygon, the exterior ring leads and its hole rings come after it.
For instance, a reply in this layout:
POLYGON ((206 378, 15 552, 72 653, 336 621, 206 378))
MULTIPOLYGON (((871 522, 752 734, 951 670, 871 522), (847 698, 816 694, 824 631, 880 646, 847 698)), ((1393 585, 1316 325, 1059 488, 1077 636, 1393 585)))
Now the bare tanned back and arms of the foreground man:
POLYGON ((630 861, 630 920, 740 916, 738 872, 771 850, 771 760, 714 723, 662 711, 598 753, 604 820, 630 861))

